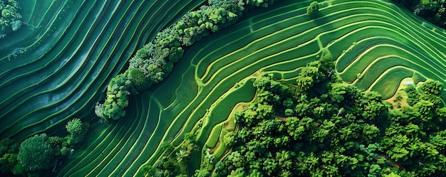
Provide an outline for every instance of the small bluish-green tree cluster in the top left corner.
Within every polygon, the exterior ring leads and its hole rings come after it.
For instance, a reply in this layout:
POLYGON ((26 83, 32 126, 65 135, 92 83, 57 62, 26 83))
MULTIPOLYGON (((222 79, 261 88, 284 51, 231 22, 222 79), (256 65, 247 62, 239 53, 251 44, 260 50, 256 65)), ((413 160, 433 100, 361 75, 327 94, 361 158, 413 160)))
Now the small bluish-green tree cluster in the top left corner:
POLYGON ((0 1, 0 38, 4 38, 9 31, 17 31, 21 25, 19 2, 15 0, 0 1))

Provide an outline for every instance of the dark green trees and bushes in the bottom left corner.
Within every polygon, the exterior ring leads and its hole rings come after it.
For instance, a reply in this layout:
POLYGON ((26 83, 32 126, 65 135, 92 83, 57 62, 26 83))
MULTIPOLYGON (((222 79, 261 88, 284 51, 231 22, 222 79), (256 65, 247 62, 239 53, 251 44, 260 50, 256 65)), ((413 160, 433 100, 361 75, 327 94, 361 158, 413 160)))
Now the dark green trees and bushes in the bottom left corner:
POLYGON ((72 119, 66 124, 67 136, 36 134, 20 144, 11 139, 0 141, 1 176, 47 176, 48 169, 57 171, 57 166, 66 156, 73 154, 81 142, 89 124, 81 119, 72 119))

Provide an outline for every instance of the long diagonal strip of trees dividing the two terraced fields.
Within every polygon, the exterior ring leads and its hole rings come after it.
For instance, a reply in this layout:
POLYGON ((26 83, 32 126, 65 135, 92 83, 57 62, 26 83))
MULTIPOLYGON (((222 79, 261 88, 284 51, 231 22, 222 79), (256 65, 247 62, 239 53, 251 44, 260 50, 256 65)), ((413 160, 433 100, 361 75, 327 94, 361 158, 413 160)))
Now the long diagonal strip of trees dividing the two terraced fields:
POLYGON ((209 0, 208 5, 188 12, 136 52, 128 70, 111 80, 105 101, 96 104, 95 113, 107 119, 123 117, 128 95, 162 82, 181 60, 187 46, 234 24, 245 9, 266 7, 274 1, 277 0, 209 0))

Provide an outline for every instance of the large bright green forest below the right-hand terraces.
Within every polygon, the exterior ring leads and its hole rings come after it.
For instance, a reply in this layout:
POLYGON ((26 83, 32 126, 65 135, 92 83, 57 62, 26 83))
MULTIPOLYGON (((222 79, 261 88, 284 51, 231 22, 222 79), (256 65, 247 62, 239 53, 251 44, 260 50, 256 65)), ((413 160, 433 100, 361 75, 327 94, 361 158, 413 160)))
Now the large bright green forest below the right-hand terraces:
MULTIPOLYGON (((328 59, 328 57, 327 57, 328 59)), ((234 117, 240 128, 212 162, 212 176, 442 176, 446 108, 442 84, 409 86, 410 104, 389 111, 318 60, 292 82, 258 77, 256 99, 234 117)))

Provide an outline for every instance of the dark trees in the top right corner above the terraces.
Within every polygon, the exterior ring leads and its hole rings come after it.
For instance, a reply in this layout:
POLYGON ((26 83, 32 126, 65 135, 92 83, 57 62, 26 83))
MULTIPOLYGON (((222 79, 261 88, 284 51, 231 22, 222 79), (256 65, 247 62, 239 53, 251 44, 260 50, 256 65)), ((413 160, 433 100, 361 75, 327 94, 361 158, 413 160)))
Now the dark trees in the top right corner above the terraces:
POLYGON ((430 23, 446 28, 446 4, 444 0, 393 0, 402 4, 413 14, 425 18, 430 23))

